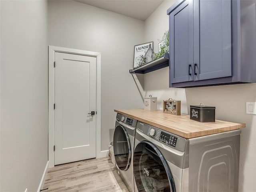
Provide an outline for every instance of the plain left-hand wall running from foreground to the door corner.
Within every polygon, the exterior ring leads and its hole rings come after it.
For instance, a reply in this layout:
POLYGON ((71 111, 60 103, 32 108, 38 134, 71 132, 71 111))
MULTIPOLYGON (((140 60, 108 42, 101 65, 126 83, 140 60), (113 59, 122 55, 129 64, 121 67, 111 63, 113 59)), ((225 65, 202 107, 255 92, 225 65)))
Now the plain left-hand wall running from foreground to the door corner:
POLYGON ((47 1, 0 5, 0 191, 35 192, 48 161, 47 1))

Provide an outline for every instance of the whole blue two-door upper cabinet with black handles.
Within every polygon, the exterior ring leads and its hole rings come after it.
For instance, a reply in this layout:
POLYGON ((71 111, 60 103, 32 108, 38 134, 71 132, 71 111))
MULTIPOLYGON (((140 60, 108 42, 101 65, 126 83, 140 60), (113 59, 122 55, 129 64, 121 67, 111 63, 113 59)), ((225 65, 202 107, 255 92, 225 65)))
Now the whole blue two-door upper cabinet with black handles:
POLYGON ((256 48, 252 6, 256 0, 179 0, 170 7, 170 87, 256 82, 255 54, 242 55, 256 48))

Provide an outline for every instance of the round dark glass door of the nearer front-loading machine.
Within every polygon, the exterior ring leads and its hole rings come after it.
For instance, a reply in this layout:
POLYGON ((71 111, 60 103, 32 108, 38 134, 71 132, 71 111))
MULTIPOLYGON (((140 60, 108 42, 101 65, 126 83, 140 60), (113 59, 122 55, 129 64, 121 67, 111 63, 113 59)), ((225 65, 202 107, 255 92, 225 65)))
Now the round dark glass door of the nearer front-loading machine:
POLYGON ((139 192, 175 192, 169 166, 154 144, 142 141, 136 146, 133 170, 139 192))

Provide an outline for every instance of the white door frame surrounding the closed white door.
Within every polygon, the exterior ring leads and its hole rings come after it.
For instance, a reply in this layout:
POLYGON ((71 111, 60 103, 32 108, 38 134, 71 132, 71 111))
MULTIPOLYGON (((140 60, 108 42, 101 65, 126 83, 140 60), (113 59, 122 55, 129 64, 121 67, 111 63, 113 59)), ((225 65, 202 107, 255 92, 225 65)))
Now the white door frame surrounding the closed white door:
POLYGON ((101 151, 101 53, 57 46, 48 47, 48 160, 49 167, 54 167, 54 90, 55 90, 55 52, 96 57, 96 158, 106 157, 108 150, 101 151))

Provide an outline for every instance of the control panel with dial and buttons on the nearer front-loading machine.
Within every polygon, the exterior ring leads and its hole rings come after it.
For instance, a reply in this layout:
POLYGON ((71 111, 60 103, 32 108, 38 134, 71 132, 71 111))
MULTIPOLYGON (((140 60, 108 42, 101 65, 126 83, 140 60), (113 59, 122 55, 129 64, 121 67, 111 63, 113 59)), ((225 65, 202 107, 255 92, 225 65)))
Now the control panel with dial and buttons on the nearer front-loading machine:
POLYGON ((183 137, 177 136, 140 121, 137 123, 136 130, 137 132, 142 132, 150 138, 171 146, 172 148, 184 151, 186 139, 183 137))

